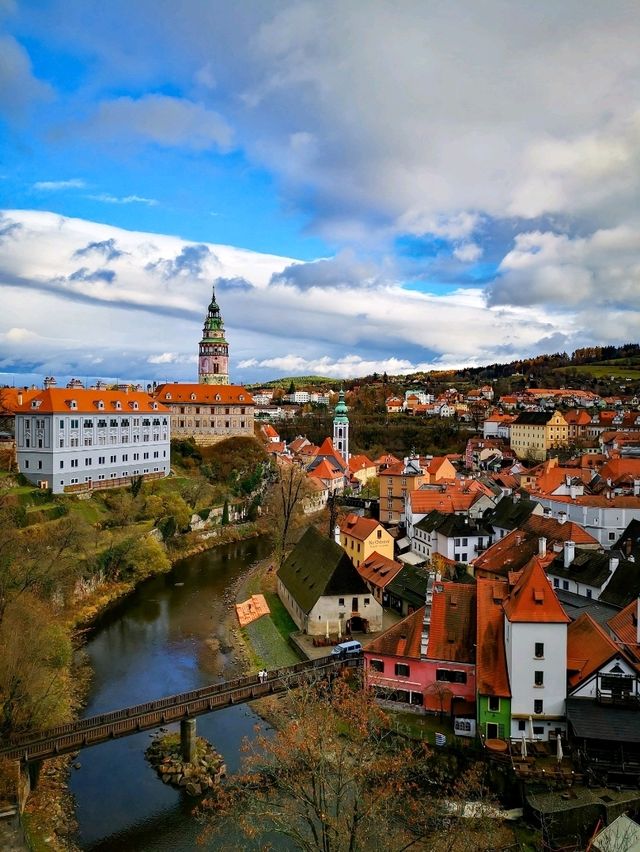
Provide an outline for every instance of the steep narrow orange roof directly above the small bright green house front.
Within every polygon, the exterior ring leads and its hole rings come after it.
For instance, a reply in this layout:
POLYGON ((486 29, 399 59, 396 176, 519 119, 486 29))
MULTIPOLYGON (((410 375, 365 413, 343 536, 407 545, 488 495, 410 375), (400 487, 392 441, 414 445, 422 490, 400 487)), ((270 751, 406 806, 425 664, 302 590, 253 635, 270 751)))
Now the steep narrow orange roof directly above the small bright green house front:
POLYGON ((502 602, 509 594, 506 580, 478 579, 476 684, 480 695, 510 698, 509 672, 504 648, 502 602))

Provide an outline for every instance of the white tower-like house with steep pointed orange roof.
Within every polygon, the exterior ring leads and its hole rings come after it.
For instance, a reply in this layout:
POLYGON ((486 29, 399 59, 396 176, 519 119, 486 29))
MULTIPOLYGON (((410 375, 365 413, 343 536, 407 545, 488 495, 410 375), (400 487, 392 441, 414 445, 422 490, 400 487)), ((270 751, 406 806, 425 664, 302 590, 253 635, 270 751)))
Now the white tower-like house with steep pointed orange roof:
POLYGON ((548 740, 566 730, 567 625, 542 564, 533 557, 504 602, 511 736, 548 740))

